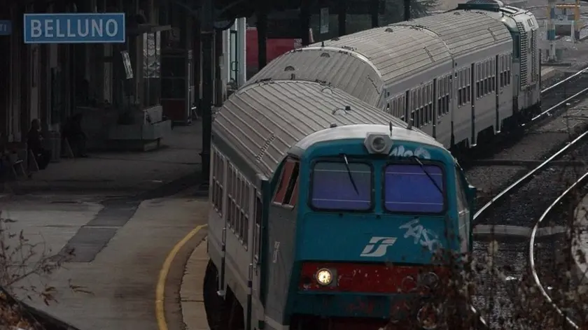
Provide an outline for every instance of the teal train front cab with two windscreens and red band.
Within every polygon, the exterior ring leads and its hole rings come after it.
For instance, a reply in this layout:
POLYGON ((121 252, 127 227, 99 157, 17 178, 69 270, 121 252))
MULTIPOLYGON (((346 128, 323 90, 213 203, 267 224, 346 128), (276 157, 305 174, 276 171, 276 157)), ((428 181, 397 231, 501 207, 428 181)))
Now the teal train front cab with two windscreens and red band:
POLYGON ((467 252, 472 243, 475 189, 449 152, 377 134, 314 143, 278 173, 267 226, 266 329, 426 322, 425 300, 399 307, 419 299, 416 287, 439 280, 430 268, 435 250, 467 252))

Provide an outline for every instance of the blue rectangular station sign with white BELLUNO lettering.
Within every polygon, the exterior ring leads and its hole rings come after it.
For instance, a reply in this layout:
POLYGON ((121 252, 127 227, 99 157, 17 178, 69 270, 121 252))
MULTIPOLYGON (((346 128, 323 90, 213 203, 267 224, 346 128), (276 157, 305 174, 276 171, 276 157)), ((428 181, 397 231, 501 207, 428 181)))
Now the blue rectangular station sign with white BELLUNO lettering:
POLYGON ((125 41, 125 13, 25 14, 25 43, 125 41))

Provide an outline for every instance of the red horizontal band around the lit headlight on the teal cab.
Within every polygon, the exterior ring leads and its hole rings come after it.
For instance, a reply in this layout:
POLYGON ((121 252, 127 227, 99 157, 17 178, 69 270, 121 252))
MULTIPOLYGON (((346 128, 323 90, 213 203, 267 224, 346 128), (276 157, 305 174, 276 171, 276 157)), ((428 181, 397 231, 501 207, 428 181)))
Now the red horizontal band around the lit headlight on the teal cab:
POLYGON ((419 273, 430 271, 435 271, 441 277, 442 270, 430 266, 305 262, 298 288, 321 292, 408 293, 416 288, 419 273), (321 268, 336 272, 336 282, 328 286, 318 285, 315 275, 321 268))

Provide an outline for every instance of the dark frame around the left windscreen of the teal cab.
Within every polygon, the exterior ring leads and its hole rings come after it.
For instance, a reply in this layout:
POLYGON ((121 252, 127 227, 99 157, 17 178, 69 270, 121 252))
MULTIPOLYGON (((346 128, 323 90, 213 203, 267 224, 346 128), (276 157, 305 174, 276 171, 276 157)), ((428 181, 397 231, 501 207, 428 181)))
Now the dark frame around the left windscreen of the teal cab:
POLYGON ((376 206, 376 196, 375 196, 375 172, 374 172, 374 164, 369 162, 365 158, 354 158, 354 157, 347 157, 349 164, 365 164, 370 167, 370 207, 366 210, 346 210, 346 209, 335 209, 335 208, 317 208, 312 204, 312 192, 314 188, 314 166, 318 162, 334 162, 339 164, 345 164, 345 161, 340 157, 321 157, 314 159, 310 163, 310 175, 309 175, 309 187, 308 187, 308 196, 307 196, 307 206, 313 210, 314 212, 321 212, 321 213, 373 213, 376 206))

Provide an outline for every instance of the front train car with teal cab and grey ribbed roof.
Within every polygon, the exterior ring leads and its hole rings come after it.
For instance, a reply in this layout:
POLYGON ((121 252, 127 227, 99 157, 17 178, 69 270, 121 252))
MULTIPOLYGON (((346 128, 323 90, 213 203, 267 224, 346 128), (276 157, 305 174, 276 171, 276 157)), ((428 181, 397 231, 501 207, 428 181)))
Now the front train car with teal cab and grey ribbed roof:
POLYGON ((212 132, 211 329, 375 330, 407 299, 415 309, 398 313, 430 321, 410 290, 440 279, 427 268, 435 252, 472 244, 475 188, 447 149, 340 89, 296 80, 239 89, 212 132))

